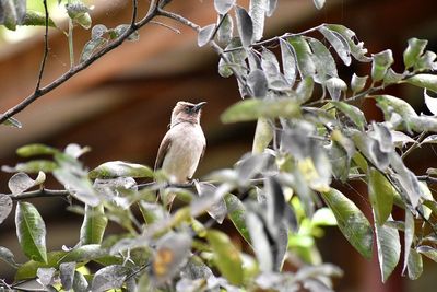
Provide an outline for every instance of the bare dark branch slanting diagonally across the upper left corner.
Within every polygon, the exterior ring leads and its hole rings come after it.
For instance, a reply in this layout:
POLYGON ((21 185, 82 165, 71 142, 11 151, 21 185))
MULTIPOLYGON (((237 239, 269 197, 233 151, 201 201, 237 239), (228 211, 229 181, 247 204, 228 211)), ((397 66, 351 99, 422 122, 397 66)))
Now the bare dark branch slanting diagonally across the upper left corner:
POLYGON ((96 60, 102 58, 104 55, 106 55, 109 51, 114 50, 115 48, 119 47, 133 32, 138 31, 140 27, 150 23, 152 21, 152 19, 155 17, 156 15, 157 15, 156 1, 152 1, 147 14, 141 21, 137 22, 134 26, 129 26, 129 28, 126 30, 126 32, 122 35, 120 35, 114 42, 108 44, 102 50, 99 50, 96 54, 94 54, 93 56, 91 56, 90 59, 79 63, 78 66, 73 66, 72 68, 70 68, 69 71, 64 72, 58 79, 56 79, 51 83, 47 84, 46 86, 39 89, 38 91, 35 91, 33 94, 31 94, 29 96, 24 98, 21 103, 16 104, 15 106, 13 106, 10 109, 8 109, 7 112, 4 112, 2 115, 0 115, 0 124, 5 121, 10 117, 16 115, 17 113, 22 112, 24 108, 29 106, 33 102, 35 102, 39 97, 44 96, 45 94, 51 92, 52 90, 57 89, 58 86, 60 86, 61 84, 63 84, 64 82, 70 80, 72 77, 74 77, 82 70, 88 68, 92 63, 94 63, 96 60))

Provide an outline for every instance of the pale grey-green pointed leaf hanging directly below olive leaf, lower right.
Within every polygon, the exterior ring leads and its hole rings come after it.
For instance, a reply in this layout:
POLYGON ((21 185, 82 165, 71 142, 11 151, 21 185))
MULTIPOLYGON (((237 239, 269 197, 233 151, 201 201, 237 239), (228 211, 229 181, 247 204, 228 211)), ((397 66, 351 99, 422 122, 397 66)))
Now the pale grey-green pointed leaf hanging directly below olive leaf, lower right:
POLYGON ((386 282, 401 256, 399 232, 392 227, 375 224, 375 234, 381 278, 382 282, 386 282))

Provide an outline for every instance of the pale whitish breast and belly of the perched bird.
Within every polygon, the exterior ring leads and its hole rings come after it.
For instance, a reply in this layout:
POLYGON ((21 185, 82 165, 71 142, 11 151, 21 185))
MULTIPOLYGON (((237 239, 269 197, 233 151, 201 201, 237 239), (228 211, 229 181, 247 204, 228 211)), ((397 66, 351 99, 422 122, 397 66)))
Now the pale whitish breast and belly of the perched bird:
POLYGON ((186 183, 198 167, 205 147, 202 128, 198 124, 181 122, 169 129, 170 147, 162 168, 173 183, 186 183))

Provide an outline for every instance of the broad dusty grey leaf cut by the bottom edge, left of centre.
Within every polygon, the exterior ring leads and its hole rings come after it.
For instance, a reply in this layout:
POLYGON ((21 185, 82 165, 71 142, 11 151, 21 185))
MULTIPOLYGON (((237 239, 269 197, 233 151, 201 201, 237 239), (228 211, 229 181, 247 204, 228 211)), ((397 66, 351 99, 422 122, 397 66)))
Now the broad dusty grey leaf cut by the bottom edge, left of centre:
POLYGON ((109 289, 119 289, 131 270, 121 265, 111 265, 99 269, 93 278, 91 290, 93 292, 103 292, 109 289))

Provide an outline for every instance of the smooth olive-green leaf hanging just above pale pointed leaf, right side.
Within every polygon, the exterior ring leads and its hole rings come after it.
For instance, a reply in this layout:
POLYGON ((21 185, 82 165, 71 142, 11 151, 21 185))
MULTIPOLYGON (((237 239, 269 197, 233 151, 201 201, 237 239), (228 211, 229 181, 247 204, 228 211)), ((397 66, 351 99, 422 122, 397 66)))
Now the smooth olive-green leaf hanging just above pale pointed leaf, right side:
POLYGON ((391 213, 394 191, 393 186, 378 170, 370 168, 368 192, 378 225, 382 225, 391 213))

